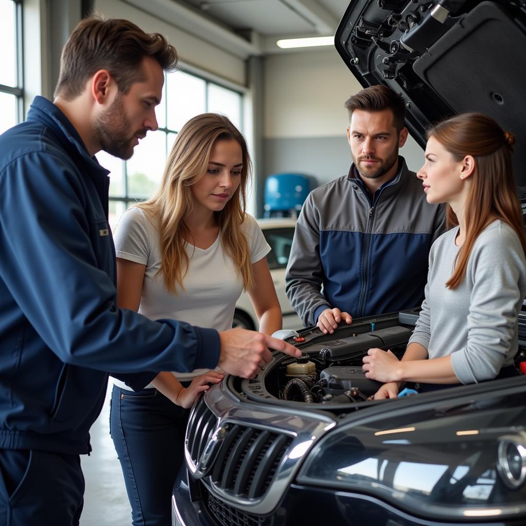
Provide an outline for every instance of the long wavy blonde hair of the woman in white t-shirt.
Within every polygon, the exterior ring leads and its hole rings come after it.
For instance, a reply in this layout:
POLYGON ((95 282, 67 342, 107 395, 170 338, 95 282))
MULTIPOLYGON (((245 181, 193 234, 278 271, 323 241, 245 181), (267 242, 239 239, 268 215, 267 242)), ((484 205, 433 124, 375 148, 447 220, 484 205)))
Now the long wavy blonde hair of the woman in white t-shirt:
POLYGON ((241 146, 241 181, 225 208, 214 215, 219 225, 221 244, 240 272, 244 288, 254 287, 250 251, 241 223, 245 220, 246 191, 251 162, 247 143, 239 130, 224 115, 204 113, 191 118, 179 131, 161 184, 155 195, 136 206, 156 219, 162 256, 161 269, 168 291, 184 289, 183 279, 190 258, 186 246, 191 233, 185 224, 193 199, 190 187, 206 174, 210 153, 217 140, 236 140, 241 146))

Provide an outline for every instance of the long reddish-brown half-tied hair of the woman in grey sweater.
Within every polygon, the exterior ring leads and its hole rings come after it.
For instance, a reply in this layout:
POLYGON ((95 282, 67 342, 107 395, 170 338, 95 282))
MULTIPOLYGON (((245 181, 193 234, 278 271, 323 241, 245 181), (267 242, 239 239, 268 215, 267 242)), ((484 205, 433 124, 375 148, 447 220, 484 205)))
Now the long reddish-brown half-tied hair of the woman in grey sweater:
MULTIPOLYGON (((454 289, 466 275, 477 237, 495 219, 500 219, 515 231, 526 253, 526 234, 511 165, 515 138, 481 113, 464 113, 444 120, 433 126, 427 137, 436 138, 457 162, 467 155, 475 159, 464 210, 466 240, 458 251, 453 274, 446 283, 448 288, 454 289)), ((459 224, 449 205, 446 207, 446 221, 448 228, 459 224)))

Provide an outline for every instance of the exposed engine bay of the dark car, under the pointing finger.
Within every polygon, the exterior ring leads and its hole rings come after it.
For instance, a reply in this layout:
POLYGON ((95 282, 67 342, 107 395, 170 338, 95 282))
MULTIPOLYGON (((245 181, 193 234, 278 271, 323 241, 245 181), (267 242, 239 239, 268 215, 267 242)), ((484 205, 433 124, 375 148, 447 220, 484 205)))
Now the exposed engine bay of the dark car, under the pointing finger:
POLYGON ((324 335, 317 327, 305 329, 286 339, 302 351, 300 358, 276 353, 256 378, 238 379, 232 387, 249 399, 305 402, 318 407, 367 401, 381 384, 366 378, 363 356, 378 347, 401 358, 417 318, 415 309, 340 324, 333 334, 324 335))

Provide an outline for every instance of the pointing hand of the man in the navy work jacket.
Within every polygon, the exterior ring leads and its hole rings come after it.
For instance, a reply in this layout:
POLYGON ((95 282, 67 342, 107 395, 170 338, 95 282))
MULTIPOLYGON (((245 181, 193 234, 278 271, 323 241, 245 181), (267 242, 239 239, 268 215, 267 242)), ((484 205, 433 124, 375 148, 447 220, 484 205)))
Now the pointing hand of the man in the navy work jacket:
POLYGON ((272 359, 269 348, 295 358, 301 356, 301 351, 290 343, 253 330, 225 330, 219 332, 219 339, 221 353, 217 365, 225 372, 242 378, 254 377, 272 359))

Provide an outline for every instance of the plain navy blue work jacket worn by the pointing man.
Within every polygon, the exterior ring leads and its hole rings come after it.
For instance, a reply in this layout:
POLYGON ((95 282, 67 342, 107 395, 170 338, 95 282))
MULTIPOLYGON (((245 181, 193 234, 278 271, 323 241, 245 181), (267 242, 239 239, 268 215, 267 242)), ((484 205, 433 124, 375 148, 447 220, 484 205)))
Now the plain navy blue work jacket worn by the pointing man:
POLYGON ((2 449, 87 453, 106 371, 142 389, 140 371, 217 364, 217 331, 117 307, 108 187, 45 98, 0 136, 2 449))

